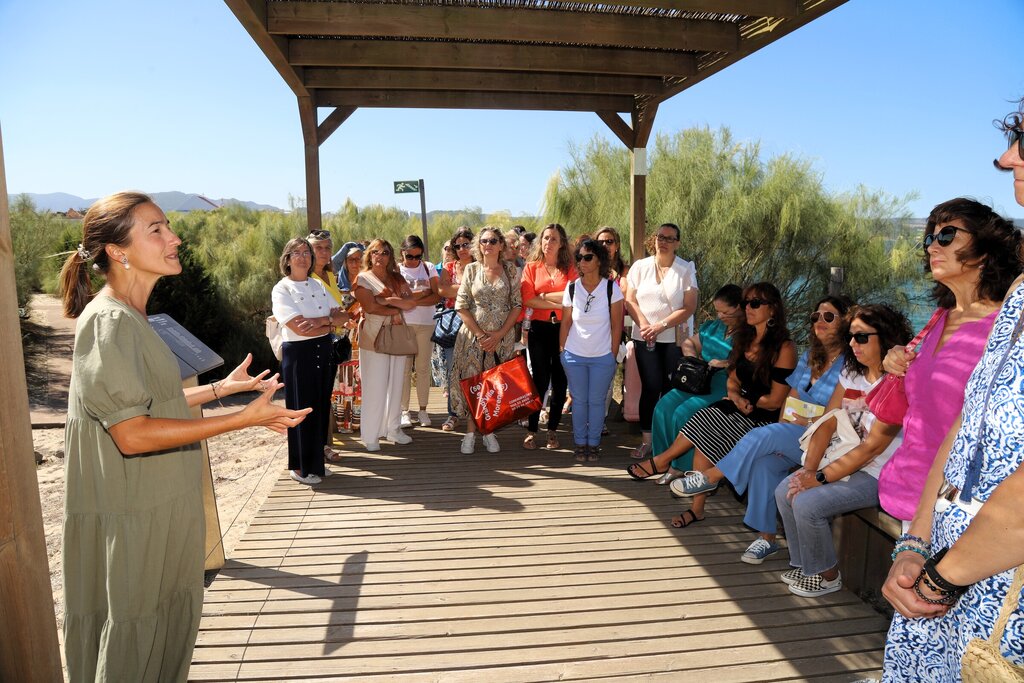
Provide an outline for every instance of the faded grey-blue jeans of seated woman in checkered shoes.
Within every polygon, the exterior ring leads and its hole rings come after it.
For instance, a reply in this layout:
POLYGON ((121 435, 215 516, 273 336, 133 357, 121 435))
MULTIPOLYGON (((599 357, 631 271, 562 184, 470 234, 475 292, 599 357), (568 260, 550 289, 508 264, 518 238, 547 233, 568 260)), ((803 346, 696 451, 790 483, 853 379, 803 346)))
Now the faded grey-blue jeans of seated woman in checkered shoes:
POLYGON ((785 526, 790 564, 807 575, 831 569, 839 562, 831 540, 831 518, 879 504, 879 480, 863 472, 854 472, 849 481, 803 490, 792 503, 785 500, 788 490, 790 477, 785 477, 775 488, 775 504, 785 526))

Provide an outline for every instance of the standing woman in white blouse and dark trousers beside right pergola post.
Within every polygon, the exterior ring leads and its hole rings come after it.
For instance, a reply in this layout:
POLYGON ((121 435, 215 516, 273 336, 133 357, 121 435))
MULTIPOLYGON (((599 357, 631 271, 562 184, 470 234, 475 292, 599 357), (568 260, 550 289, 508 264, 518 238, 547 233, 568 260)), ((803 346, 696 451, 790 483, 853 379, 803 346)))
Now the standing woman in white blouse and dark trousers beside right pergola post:
POLYGON ((650 454, 654 405, 672 388, 669 374, 682 356, 676 327, 697 308, 696 271, 692 262, 676 256, 679 237, 678 225, 658 227, 654 255, 636 261, 627 276, 626 309, 633 317, 634 353, 640 371, 642 442, 632 454, 637 459, 650 454))

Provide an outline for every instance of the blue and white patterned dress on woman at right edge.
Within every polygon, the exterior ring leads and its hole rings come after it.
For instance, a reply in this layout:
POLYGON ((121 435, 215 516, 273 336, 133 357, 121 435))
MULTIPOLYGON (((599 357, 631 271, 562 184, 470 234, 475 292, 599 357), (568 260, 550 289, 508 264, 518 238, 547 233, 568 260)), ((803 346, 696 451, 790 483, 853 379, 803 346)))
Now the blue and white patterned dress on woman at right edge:
MULTIPOLYGON (((964 399, 964 426, 946 462, 946 479, 963 488, 984 417, 983 460, 973 493, 981 501, 987 501, 999 482, 1024 461, 1024 339, 1014 344, 1006 365, 998 371, 1022 314, 1024 285, 1017 287, 1004 303, 985 353, 971 375, 964 399), (997 371, 998 377, 993 377, 997 371), (986 407, 990 386, 992 395, 986 407)), ((956 505, 950 505, 943 513, 936 512, 932 522, 933 547, 951 546, 970 523, 971 517, 956 505)), ((897 613, 886 643, 883 681, 959 681, 961 657, 967 644, 974 638, 987 639, 991 635, 1013 573, 1011 569, 978 582, 944 616, 908 620, 897 613)), ((1024 599, 1010 616, 1000 645, 1010 660, 1024 664, 1024 599)))

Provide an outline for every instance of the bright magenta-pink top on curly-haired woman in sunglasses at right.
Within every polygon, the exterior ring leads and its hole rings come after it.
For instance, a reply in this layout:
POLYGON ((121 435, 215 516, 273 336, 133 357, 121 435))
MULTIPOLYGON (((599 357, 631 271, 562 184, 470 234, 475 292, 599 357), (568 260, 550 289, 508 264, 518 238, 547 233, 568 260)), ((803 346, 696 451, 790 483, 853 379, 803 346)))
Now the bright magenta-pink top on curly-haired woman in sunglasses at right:
POLYGON ((985 350, 997 312, 962 325, 936 353, 946 326, 948 311, 944 312, 907 369, 903 443, 879 476, 879 501, 892 516, 913 517, 935 454, 964 409, 964 388, 985 350))

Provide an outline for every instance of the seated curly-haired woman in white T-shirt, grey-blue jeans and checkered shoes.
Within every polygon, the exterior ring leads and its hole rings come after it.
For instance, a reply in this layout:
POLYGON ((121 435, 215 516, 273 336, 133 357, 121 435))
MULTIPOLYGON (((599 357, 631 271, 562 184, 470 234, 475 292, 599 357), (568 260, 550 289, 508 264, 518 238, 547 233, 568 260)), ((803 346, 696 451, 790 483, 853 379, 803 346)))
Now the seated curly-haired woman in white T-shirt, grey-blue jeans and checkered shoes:
POLYGON ((885 375, 886 350, 909 339, 906 318, 889 306, 858 306, 850 313, 853 358, 828 408, 846 412, 861 442, 819 469, 837 428, 835 417, 825 418, 807 443, 804 466, 775 488, 794 567, 781 579, 797 595, 813 598, 843 588, 829 520, 879 504, 879 472, 899 445, 900 426, 876 420, 865 398, 885 375))

